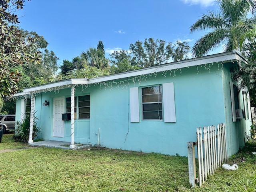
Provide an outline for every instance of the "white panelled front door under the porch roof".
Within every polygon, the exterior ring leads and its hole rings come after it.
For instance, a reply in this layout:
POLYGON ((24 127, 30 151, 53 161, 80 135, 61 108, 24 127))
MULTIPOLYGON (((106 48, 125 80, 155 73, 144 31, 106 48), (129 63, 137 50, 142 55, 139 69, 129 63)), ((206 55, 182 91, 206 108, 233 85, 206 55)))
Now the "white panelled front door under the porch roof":
POLYGON ((64 121, 62 121, 62 113, 64 113, 64 97, 54 98, 53 100, 53 136, 64 137, 64 121))

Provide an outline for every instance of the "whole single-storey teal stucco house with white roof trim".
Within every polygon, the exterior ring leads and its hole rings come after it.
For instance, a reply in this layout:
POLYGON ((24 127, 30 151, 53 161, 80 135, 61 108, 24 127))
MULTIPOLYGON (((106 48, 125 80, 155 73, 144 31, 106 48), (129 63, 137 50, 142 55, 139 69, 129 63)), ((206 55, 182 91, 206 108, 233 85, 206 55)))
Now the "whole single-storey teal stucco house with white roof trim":
MULTIPOLYGON (((40 138, 187 156, 196 128, 226 124, 228 156, 250 134, 249 95, 231 69, 235 50, 91 79, 66 79, 14 95, 16 120, 35 113, 40 138)), ((31 117, 33 118, 33 117, 31 117)), ((32 143, 32 136, 29 143, 32 143)))

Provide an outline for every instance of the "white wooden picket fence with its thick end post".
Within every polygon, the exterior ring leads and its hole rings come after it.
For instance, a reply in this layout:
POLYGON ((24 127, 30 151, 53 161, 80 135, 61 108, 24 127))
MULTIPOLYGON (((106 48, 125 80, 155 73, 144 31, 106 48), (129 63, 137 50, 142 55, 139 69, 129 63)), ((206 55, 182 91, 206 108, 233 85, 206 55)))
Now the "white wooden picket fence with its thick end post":
POLYGON ((196 134, 197 141, 188 142, 188 172, 192 187, 197 183, 201 186, 228 158, 224 123, 217 125, 217 134, 215 125, 204 127, 203 132, 201 127, 197 128, 196 134), (198 155, 198 174, 196 174, 195 146, 198 155))

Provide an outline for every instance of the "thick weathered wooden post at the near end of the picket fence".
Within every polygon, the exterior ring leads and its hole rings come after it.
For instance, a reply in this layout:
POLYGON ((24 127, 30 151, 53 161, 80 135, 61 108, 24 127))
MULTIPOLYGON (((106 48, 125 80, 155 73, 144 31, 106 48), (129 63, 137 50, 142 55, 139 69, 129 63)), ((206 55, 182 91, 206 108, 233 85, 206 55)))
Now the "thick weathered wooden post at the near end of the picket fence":
POLYGON ((195 142, 188 142, 188 175, 190 186, 196 186, 195 142))

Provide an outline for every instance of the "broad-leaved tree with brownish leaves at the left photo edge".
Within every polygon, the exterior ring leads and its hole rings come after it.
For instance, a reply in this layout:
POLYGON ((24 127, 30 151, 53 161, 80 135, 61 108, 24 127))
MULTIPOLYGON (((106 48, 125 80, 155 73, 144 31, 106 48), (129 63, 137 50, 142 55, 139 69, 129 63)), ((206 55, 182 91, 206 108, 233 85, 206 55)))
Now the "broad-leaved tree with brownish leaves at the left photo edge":
POLYGON ((40 63, 40 52, 31 52, 34 39, 26 42, 16 27, 18 16, 12 10, 22 9, 25 0, 1 0, 0 3, 0 96, 15 94, 18 90, 18 80, 21 76, 18 70, 10 68, 20 66, 26 61, 40 63))

